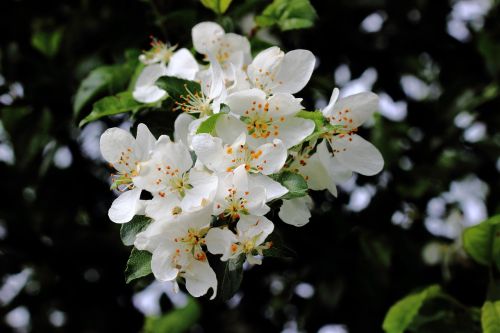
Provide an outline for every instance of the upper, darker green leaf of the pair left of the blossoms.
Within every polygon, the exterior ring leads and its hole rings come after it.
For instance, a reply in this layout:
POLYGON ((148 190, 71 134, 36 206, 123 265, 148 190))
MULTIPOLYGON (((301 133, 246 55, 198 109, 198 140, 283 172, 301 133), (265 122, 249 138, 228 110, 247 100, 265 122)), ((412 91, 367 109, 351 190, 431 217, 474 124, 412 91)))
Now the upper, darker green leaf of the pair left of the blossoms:
MULTIPOLYGON (((126 52, 127 61, 123 64, 101 66, 92 70, 82 81, 73 103, 73 113, 78 117, 82 109, 95 98, 104 94, 113 95, 125 90, 139 65, 138 54, 126 52)), ((140 65, 139 65, 140 66, 140 65)))

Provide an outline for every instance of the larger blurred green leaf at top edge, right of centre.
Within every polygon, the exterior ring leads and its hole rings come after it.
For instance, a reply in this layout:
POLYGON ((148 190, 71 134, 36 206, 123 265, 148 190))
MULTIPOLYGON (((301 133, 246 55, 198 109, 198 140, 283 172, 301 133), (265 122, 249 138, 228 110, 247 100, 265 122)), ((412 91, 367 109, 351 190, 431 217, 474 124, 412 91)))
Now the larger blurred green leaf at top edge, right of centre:
POLYGON ((279 26, 282 31, 305 29, 314 25, 317 14, 309 0, 274 0, 256 22, 260 27, 279 26))

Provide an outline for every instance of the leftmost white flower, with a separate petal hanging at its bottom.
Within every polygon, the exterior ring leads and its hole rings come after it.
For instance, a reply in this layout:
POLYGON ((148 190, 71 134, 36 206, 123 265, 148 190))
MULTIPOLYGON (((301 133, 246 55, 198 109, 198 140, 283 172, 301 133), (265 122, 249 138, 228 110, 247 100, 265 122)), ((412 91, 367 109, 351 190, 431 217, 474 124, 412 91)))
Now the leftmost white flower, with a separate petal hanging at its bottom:
POLYGON ((102 156, 118 173, 113 176, 113 189, 122 193, 108 211, 111 221, 125 223, 143 210, 142 187, 135 183, 141 164, 147 161, 156 139, 144 124, 137 126, 137 138, 121 128, 106 130, 100 140, 102 156), (128 190, 128 191, 126 191, 128 190))

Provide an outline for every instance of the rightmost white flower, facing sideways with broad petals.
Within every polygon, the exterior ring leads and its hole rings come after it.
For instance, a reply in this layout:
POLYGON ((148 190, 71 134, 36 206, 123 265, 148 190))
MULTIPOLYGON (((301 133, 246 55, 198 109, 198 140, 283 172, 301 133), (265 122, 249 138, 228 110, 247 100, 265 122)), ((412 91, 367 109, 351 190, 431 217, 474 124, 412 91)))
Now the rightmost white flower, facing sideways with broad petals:
POLYGON ((356 132, 377 110, 378 96, 365 92, 337 101, 338 95, 339 90, 335 88, 330 103, 322 110, 323 116, 335 127, 325 137, 343 167, 362 175, 375 175, 384 167, 384 159, 375 146, 356 132))

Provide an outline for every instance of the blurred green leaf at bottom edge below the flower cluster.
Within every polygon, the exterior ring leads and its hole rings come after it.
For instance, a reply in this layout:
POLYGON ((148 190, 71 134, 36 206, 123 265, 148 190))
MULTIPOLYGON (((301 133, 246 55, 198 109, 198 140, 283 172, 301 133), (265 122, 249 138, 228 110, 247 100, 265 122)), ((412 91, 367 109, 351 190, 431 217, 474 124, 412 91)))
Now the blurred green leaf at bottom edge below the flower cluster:
POLYGON ((144 333, 184 333, 198 322, 201 307, 192 297, 185 307, 173 309, 161 317, 146 317, 144 333))

